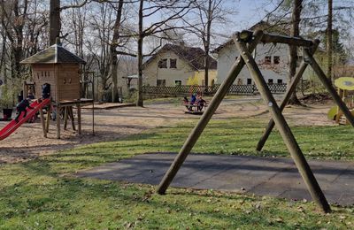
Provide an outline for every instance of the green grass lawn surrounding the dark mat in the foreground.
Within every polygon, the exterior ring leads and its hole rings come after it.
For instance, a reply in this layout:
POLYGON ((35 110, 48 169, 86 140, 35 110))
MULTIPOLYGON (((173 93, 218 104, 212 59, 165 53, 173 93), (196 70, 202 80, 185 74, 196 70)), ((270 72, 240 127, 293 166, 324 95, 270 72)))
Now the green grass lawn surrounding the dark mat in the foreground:
MULTIPOLYGON (((354 207, 334 207, 331 214, 314 203, 278 198, 168 190, 156 195, 147 185, 77 179, 75 172, 157 151, 179 151, 196 120, 159 127, 116 142, 103 142, 40 157, 27 163, 0 165, 0 228, 2 229, 352 229, 354 207)), ((265 120, 214 120, 194 152, 289 156, 273 133, 263 152, 255 151, 265 120)), ((354 158, 350 126, 293 128, 308 158, 354 158)))

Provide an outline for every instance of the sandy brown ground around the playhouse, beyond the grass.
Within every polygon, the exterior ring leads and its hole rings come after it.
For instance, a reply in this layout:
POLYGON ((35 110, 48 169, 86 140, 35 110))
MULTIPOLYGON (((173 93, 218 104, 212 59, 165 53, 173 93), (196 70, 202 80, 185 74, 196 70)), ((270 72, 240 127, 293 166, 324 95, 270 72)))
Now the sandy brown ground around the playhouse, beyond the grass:
MULTIPOLYGON (((293 125, 323 126, 333 125, 327 120, 328 104, 312 104, 310 107, 291 107, 284 111, 284 116, 293 125)), ((212 119, 248 118, 258 116, 270 119, 267 107, 259 97, 225 99, 212 119)), ((26 161, 48 155, 58 150, 71 149, 95 142, 107 142, 138 134, 143 130, 157 126, 175 126, 183 120, 197 121, 200 116, 185 114, 183 106, 173 103, 150 103, 144 108, 125 107, 112 110, 95 111, 95 135, 92 135, 92 117, 90 110, 82 111, 82 134, 78 135, 71 126, 61 130, 61 139, 57 139, 55 123, 50 125, 48 138, 42 137, 42 126, 26 123, 0 142, 0 164, 26 161)), ((0 122, 0 128, 6 122, 0 122)), ((266 122, 265 122, 266 124, 266 122)))

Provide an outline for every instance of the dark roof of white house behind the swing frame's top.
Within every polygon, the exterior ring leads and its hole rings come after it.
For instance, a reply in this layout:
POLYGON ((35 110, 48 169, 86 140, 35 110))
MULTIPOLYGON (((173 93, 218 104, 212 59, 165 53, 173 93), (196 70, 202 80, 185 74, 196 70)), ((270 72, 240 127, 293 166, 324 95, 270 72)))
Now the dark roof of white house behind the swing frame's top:
MULTIPOLYGON (((248 30, 263 30, 266 31, 268 33, 273 33, 273 34, 278 34, 278 35, 289 35, 289 28, 287 27, 280 27, 280 26, 274 26, 269 24, 268 22, 261 20, 259 21, 257 24, 253 25, 252 27, 250 27, 248 30)), ((222 50, 224 47, 228 46, 228 45, 232 45, 234 44, 234 40, 233 39, 229 39, 227 42, 219 45, 218 48, 216 48, 215 50, 212 50, 212 53, 218 53, 219 50, 222 50)))

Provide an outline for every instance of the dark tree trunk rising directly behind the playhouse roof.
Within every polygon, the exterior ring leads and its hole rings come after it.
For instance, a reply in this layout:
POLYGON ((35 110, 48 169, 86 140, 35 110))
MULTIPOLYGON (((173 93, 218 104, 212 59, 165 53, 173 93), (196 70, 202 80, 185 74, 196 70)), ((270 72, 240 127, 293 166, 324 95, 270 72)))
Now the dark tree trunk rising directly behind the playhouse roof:
POLYGON ((60 0, 50 0, 50 45, 60 36, 60 0))

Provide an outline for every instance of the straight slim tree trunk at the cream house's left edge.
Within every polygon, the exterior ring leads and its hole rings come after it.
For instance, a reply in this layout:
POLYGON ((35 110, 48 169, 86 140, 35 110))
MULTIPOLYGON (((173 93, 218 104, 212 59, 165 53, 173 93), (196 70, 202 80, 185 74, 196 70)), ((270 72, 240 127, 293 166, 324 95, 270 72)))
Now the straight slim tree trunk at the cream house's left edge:
POLYGON ((143 106, 142 100, 142 42, 143 42, 143 34, 142 34, 142 9, 143 9, 144 0, 140 0, 139 7, 139 38, 138 38, 138 98, 136 102, 136 106, 143 106))

